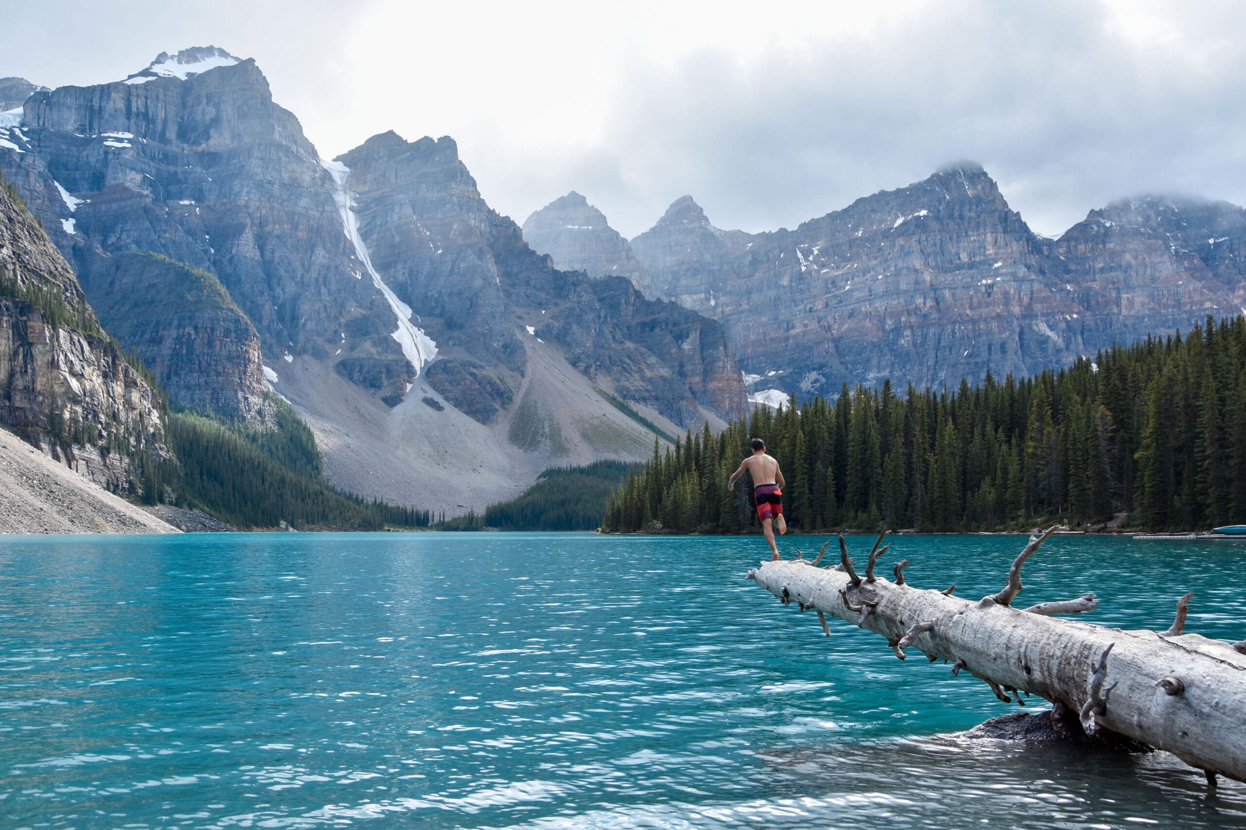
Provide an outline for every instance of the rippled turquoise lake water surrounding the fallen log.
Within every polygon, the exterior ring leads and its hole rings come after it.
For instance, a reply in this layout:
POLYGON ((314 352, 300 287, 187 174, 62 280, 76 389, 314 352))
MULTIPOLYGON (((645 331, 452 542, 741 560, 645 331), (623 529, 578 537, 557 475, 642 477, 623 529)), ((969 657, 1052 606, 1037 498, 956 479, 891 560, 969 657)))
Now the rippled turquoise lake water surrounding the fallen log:
MULTIPOLYGON (((976 596, 1023 544, 903 536, 890 557, 976 596)), ((0 826, 1246 826, 1246 786, 1209 794, 1164 753, 951 737, 1011 709, 847 623, 824 637, 743 580, 763 548, 9 538, 0 826)), ((1163 628, 1192 590, 1186 631, 1236 641, 1244 555, 1054 538, 1023 597, 1093 590, 1091 621, 1163 628)))

